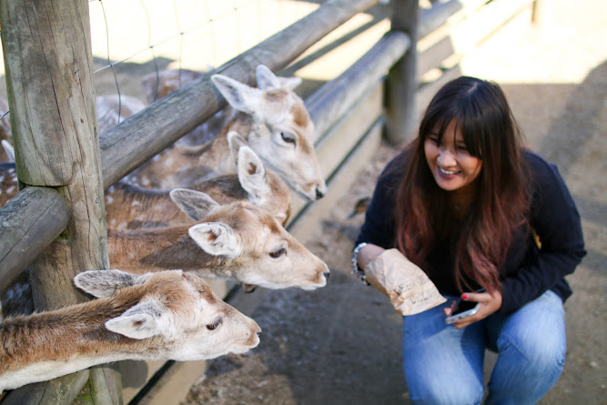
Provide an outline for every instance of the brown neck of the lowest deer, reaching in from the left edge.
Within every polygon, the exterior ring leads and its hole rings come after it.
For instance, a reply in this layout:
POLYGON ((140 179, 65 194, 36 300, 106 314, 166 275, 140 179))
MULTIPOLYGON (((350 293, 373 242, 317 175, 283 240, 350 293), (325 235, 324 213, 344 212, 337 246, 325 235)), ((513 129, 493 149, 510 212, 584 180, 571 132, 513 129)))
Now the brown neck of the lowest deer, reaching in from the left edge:
POLYGON ((110 361, 156 359, 161 348, 156 338, 129 339, 104 327, 107 319, 117 317, 138 299, 94 299, 5 319, 0 325, 0 391, 110 361))

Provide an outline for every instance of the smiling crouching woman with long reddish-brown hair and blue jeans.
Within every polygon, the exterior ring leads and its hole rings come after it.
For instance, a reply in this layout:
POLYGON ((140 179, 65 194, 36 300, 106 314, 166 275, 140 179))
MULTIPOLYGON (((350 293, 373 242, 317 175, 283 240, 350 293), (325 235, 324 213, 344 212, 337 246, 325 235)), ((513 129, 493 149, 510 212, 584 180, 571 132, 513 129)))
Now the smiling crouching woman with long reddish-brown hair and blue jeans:
POLYGON ((499 354, 487 403, 535 403, 558 380, 580 216, 557 168, 522 147, 499 86, 464 76, 440 89, 379 177, 356 243, 357 272, 398 248, 448 299, 403 317, 415 403, 481 403, 485 349, 499 354), (450 325, 458 299, 481 307, 450 325))

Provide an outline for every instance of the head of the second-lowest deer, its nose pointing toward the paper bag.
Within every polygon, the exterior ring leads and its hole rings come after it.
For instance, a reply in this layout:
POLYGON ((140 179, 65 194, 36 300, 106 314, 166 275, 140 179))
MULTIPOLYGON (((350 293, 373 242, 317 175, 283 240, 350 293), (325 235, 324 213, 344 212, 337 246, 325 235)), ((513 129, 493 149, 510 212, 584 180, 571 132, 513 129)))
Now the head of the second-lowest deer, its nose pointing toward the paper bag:
POLYGON ((248 203, 219 206, 205 193, 184 188, 171 197, 189 218, 189 237, 208 255, 221 258, 217 272, 268 289, 317 289, 329 268, 262 208, 248 203))

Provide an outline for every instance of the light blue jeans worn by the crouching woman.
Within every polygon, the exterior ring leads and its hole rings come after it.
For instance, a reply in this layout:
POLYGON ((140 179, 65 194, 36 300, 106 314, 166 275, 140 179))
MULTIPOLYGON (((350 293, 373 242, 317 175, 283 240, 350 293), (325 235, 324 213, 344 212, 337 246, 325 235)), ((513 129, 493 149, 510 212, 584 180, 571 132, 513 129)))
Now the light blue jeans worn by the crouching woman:
POLYGON ((445 304, 404 317, 403 365, 416 404, 479 404, 485 349, 498 353, 487 404, 532 404, 561 376, 567 346, 561 298, 546 291, 509 315, 466 328, 445 323, 445 304))

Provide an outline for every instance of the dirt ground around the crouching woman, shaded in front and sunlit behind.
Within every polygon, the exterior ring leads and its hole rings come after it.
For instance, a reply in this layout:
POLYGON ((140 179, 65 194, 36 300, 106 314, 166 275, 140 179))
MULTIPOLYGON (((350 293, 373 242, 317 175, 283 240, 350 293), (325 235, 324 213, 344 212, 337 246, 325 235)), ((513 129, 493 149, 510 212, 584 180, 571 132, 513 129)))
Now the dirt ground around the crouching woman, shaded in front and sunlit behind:
MULTIPOLYGON (((568 278, 567 360, 541 404, 606 404, 607 6, 558 0, 548 7, 537 25, 492 38, 461 69, 503 86, 529 145, 559 166, 582 215, 588 256, 568 278)), ((258 348, 214 360, 184 404, 409 403, 401 319, 349 274, 363 218, 348 215, 398 150, 382 145, 309 239, 332 270, 329 285, 270 291, 250 314, 263 329, 258 348)))

